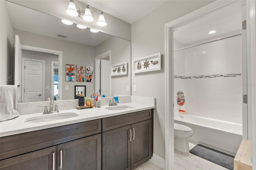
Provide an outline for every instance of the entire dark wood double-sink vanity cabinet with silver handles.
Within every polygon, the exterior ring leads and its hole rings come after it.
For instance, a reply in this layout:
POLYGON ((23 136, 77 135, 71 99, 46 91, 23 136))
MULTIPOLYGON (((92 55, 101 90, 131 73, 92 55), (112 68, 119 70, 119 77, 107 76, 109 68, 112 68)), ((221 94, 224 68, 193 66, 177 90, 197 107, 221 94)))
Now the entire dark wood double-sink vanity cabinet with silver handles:
POLYGON ((0 170, 132 170, 152 157, 152 109, 0 138, 0 170))

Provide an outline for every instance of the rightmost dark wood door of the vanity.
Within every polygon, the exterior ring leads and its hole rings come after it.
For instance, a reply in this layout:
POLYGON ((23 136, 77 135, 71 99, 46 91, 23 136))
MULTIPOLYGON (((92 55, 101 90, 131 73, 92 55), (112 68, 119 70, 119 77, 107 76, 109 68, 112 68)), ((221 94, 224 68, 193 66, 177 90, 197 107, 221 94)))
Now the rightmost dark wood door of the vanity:
POLYGON ((152 120, 132 125, 132 169, 152 156, 152 120))

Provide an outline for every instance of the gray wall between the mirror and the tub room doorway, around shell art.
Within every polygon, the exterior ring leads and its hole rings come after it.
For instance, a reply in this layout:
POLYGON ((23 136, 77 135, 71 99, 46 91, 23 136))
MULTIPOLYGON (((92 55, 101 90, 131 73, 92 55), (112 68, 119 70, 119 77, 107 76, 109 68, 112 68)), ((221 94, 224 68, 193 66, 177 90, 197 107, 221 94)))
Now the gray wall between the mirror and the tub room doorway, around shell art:
POLYGON ((132 74, 132 86, 137 85, 133 96, 156 98, 154 109, 154 154, 164 158, 164 124, 165 124, 165 72, 164 72, 164 25, 184 16, 210 0, 171 0, 132 23, 132 60, 161 52, 162 70, 132 74))

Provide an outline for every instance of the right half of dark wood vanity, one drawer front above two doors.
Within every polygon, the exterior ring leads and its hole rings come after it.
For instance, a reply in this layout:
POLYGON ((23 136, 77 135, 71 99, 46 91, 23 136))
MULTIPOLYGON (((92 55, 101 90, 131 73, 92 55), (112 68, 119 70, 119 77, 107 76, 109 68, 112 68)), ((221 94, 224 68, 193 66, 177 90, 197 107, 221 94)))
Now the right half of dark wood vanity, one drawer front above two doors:
POLYGON ((132 170, 152 157, 152 110, 104 118, 102 131, 102 170, 132 170))

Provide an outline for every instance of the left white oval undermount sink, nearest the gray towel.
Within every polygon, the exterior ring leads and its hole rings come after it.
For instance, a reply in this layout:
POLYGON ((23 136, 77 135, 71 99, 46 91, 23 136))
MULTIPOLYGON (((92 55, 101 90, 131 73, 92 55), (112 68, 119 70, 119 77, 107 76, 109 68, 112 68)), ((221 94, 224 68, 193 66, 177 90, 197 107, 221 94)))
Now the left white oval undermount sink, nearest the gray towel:
POLYGON ((35 117, 29 117, 25 119, 25 123, 41 123, 46 121, 53 121, 53 120, 60 120, 60 119, 67 119, 71 117, 76 117, 78 114, 73 112, 68 113, 49 113, 46 115, 40 115, 35 117))

